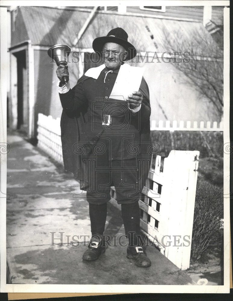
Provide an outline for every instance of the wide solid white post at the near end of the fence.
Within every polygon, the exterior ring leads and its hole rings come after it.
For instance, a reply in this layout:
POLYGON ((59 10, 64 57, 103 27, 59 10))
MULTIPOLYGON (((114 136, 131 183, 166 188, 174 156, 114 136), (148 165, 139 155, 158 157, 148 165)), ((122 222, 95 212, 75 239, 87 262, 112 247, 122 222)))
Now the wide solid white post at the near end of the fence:
POLYGON ((159 231, 165 256, 189 268, 199 151, 171 151, 164 159, 159 231))

